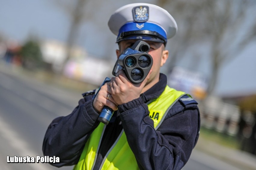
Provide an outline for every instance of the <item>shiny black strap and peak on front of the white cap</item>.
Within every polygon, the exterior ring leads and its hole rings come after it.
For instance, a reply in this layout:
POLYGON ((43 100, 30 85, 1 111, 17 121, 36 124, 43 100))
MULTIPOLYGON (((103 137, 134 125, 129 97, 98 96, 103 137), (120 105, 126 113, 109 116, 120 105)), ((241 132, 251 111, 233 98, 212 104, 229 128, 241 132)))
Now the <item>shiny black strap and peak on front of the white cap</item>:
POLYGON ((119 42, 121 39, 130 36, 130 35, 137 35, 137 34, 141 34, 141 35, 151 35, 153 37, 159 38, 163 41, 164 45, 166 45, 167 40, 160 35, 159 33, 157 33, 156 31, 149 31, 149 30, 136 30, 136 31, 127 31, 127 32, 122 32, 120 33, 119 37, 117 37, 117 42, 119 42))

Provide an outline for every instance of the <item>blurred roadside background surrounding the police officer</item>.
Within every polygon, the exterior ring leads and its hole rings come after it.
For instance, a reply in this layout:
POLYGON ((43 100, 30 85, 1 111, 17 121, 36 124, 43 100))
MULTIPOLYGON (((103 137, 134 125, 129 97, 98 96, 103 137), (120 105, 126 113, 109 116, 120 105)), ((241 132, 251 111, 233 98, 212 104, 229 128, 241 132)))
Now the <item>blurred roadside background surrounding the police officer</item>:
MULTIPOLYGON (((116 36, 111 14, 135 0, 0 2, 0 167, 7 156, 42 156, 50 122, 81 93, 111 77, 116 36)), ((256 1, 148 0, 165 8, 178 32, 161 72, 193 96, 201 131, 188 169, 256 169, 256 1)), ((72 169, 64 167, 61 169, 72 169)))

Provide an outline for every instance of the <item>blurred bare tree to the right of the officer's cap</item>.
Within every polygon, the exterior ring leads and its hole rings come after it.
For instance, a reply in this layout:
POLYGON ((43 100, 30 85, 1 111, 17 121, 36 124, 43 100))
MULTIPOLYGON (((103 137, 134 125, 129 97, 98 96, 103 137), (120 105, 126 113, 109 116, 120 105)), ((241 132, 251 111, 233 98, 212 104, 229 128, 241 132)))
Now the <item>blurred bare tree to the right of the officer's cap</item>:
MULTIPOLYGON (((255 8, 256 2, 250 0, 173 0, 170 2, 158 0, 157 4, 174 14, 179 27, 177 36, 173 38, 175 43, 171 40, 170 44, 173 54, 170 60, 172 66, 182 58, 190 46, 195 43, 209 42, 211 75, 208 93, 212 93, 221 66, 238 56, 239 52, 255 40, 256 24, 245 27, 245 19, 248 17, 246 15, 248 8, 255 8), (247 34, 242 36, 241 30, 247 34)), ((194 56, 197 55, 190 55, 190 57, 194 56)))

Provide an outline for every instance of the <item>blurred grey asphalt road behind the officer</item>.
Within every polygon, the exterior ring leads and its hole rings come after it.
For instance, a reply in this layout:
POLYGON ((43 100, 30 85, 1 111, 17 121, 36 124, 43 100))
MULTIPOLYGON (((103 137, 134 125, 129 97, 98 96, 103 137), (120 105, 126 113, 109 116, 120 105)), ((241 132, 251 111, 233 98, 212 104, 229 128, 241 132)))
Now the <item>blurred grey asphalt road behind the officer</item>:
MULTIPOLYGON (((0 69, 0 169, 58 169, 47 163, 7 163, 7 156, 43 156, 41 148, 47 126, 54 118, 71 113, 80 98, 81 94, 0 69)), ((222 169, 237 168, 197 150, 183 168, 222 169)))

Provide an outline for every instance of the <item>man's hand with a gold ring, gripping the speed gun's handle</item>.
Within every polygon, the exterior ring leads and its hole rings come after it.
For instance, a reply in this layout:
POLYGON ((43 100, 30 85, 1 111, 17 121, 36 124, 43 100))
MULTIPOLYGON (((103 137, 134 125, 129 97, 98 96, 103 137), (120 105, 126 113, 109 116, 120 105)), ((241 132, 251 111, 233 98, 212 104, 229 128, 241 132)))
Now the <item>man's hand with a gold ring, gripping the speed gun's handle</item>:
POLYGON ((117 110, 117 103, 114 101, 111 95, 111 83, 105 83, 101 86, 98 94, 93 100, 93 107, 97 112, 101 112, 104 106, 108 106, 113 110, 117 110))

